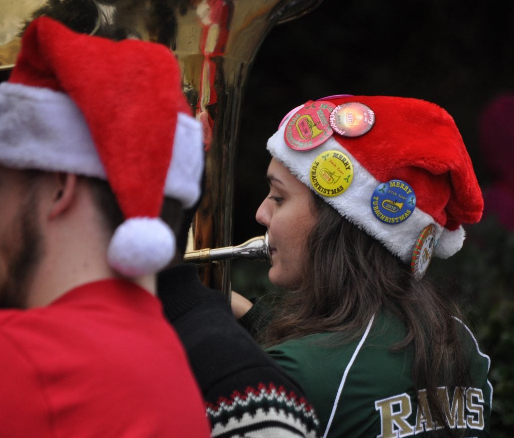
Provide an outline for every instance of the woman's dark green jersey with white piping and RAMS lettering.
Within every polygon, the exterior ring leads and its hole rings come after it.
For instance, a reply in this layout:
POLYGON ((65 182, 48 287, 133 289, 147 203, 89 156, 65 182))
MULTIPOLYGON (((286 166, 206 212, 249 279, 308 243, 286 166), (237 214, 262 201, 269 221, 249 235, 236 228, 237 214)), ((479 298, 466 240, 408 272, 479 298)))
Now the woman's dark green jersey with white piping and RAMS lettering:
MULTIPOLYGON (((426 391, 413 387, 412 350, 391 350, 405 336, 402 322, 377 314, 358 339, 336 343, 333 336, 309 335, 267 350, 304 389, 323 436, 433 436, 439 426, 430 413, 424 415, 428 408, 421 409, 426 391)), ((472 383, 456 388, 448 382, 438 388, 438 395, 452 428, 465 429, 466 437, 487 437, 492 403, 489 357, 464 324, 461 336, 472 383)))

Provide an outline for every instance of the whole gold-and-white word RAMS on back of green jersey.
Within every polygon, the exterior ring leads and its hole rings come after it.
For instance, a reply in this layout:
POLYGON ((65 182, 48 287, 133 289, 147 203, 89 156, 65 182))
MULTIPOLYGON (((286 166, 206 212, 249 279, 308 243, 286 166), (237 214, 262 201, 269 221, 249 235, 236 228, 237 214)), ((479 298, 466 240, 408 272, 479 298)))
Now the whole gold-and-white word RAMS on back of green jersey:
MULTIPOLYGON (((448 387, 437 388, 437 396, 442 403, 448 425, 452 429, 484 429, 484 394, 477 388, 454 388, 451 394, 448 387)), ((412 414, 411 400, 407 393, 398 394, 387 399, 375 401, 375 410, 380 413, 380 435, 377 438, 399 438, 418 433, 441 429, 434 422, 428 407, 427 391, 418 391, 416 423, 411 426, 409 417, 412 414)))

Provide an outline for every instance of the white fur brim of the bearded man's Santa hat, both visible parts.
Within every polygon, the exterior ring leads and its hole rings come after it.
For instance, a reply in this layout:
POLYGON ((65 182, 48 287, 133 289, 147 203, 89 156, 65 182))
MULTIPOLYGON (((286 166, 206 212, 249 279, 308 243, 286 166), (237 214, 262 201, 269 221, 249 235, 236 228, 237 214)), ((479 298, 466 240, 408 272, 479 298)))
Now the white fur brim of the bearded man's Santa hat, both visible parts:
MULTIPOLYGON (((0 163, 106 179, 84 117, 66 94, 7 82, 0 84, 0 163)), ((194 205, 203 166, 201 125, 179 113, 164 194, 194 205)))

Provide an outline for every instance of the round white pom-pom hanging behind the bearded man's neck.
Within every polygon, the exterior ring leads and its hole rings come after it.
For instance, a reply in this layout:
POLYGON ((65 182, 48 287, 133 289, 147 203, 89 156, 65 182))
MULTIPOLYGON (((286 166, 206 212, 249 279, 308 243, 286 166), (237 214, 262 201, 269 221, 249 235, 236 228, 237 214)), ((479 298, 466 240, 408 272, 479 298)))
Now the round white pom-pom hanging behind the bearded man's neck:
POLYGON ((127 277, 152 274, 175 255, 175 235, 160 218, 132 217, 115 231, 109 248, 109 266, 127 277))

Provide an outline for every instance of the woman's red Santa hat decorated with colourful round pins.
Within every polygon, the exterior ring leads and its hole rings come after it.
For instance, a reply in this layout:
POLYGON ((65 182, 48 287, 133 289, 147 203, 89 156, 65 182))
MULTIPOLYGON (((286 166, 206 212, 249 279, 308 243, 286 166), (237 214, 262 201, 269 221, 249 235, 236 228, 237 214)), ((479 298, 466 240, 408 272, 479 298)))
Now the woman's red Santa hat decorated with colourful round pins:
POLYGON ((478 222, 483 199, 453 118, 420 99, 337 95, 282 121, 267 149, 421 277, 478 222))

